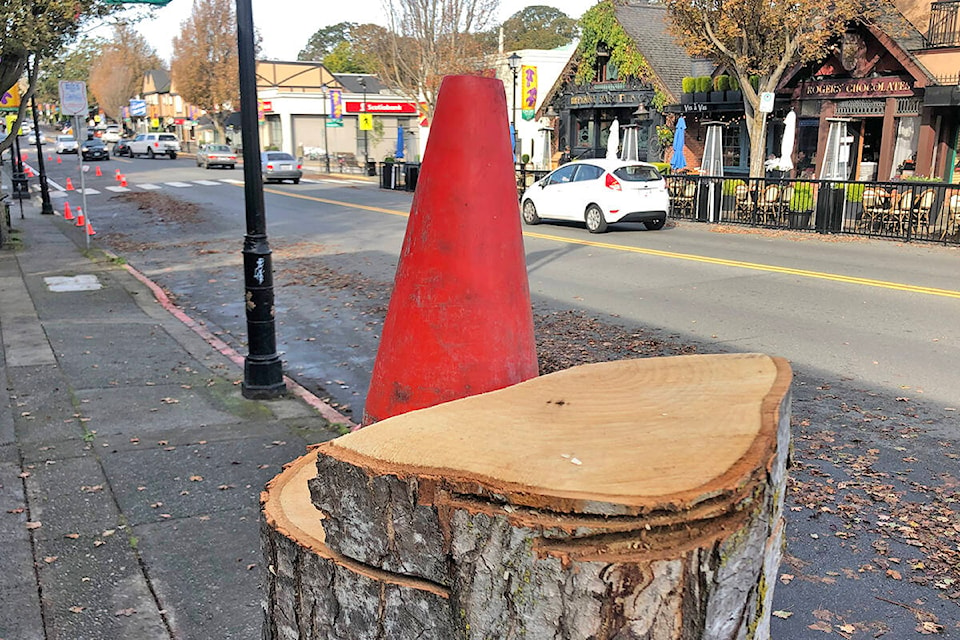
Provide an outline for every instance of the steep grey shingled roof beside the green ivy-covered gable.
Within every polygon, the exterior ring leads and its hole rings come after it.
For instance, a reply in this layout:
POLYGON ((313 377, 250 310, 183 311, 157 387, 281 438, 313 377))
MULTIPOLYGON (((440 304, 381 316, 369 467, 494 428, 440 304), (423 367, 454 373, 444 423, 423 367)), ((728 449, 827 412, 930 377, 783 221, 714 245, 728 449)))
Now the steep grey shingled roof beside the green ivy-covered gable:
POLYGON ((681 93, 683 78, 690 75, 692 59, 670 34, 666 7, 648 0, 629 0, 626 4, 615 4, 614 12, 663 88, 676 99, 681 93))

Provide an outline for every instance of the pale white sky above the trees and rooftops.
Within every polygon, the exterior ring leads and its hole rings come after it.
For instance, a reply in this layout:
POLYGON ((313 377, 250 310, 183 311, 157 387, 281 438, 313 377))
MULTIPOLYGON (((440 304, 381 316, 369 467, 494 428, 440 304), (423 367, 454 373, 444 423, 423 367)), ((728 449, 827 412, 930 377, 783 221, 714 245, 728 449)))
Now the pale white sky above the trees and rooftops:
MULTIPOLYGON (((296 60, 297 54, 314 33, 323 27, 340 22, 383 23, 380 0, 252 0, 253 22, 263 37, 262 55, 274 60, 296 60)), ((577 19, 596 0, 501 0, 502 22, 531 4, 560 9, 577 19)), ((138 30, 156 49, 157 54, 170 61, 171 41, 180 32, 180 24, 190 15, 192 0, 172 0, 165 7, 140 7, 139 13, 150 15, 138 23, 138 30)), ((109 37, 109 32, 98 33, 109 37)))

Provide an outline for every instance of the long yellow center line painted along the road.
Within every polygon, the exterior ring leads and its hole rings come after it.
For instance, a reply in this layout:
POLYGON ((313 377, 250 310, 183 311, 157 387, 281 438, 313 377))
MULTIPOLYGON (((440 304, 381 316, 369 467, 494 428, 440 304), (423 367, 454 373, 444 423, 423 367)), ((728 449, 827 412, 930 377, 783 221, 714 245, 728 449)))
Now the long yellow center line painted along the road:
MULTIPOLYGON (((241 185, 242 186, 242 185, 241 185)), ((276 191, 273 189, 264 189, 268 193, 289 196, 291 198, 300 198, 302 200, 311 200, 332 204, 335 206, 348 207, 351 209, 362 209, 364 211, 373 211, 376 213, 387 213, 394 216, 409 217, 405 211, 396 209, 385 209, 383 207, 373 207, 369 205, 355 204, 352 202, 343 202, 340 200, 327 200, 326 198, 317 198, 299 193, 288 193, 285 191, 276 191)), ((792 267, 778 267, 771 264, 760 264, 757 262, 743 262, 741 260, 727 260, 725 258, 711 258, 709 256, 698 256, 691 253, 676 253, 673 251, 660 251, 658 249, 644 249, 641 247, 630 247, 622 244, 610 244, 608 242, 598 242, 596 240, 582 240, 579 238, 565 238, 563 236, 553 236, 545 233, 535 233, 524 231, 523 235, 527 238, 537 238, 539 240, 552 240, 553 242, 562 242, 565 244, 578 244, 585 247, 596 247, 598 249, 611 249, 613 251, 625 251, 628 253, 639 253, 648 256, 657 256, 659 258, 671 258, 674 260, 687 260, 690 262, 702 262, 704 264, 715 264, 723 267, 734 267, 738 269, 749 269, 751 271, 766 271, 768 273, 781 273, 801 278, 814 278, 818 280, 830 280, 832 282, 843 282, 846 284, 856 284, 864 287, 877 287, 880 289, 892 289, 894 291, 907 291, 910 293, 922 293, 931 296, 940 296, 944 298, 960 299, 960 291, 952 289, 937 289, 935 287, 921 287, 912 284, 902 284, 899 282, 889 282, 886 280, 874 280, 872 278, 858 278, 856 276, 844 276, 837 273, 826 273, 823 271, 810 271, 808 269, 794 269, 792 267)))

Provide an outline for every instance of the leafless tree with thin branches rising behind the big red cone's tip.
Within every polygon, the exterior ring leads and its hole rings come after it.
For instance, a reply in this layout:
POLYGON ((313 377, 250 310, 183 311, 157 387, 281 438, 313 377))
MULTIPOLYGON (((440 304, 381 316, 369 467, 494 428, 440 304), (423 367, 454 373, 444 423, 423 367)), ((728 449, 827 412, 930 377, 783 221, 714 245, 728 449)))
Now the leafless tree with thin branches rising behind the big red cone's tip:
POLYGON ((387 38, 378 47, 381 79, 432 116, 445 75, 483 67, 478 34, 496 17, 499 0, 383 0, 387 38))

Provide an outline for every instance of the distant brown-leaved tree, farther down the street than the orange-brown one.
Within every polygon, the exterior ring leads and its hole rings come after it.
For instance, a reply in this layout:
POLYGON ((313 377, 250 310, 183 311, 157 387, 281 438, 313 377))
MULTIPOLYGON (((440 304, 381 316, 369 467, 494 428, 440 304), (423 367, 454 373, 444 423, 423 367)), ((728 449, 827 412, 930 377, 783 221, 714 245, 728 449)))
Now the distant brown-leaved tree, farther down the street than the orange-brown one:
POLYGON ((90 92, 100 108, 120 120, 120 108, 140 93, 143 75, 162 66, 146 39, 126 24, 114 27, 113 40, 106 43, 90 69, 90 92))

